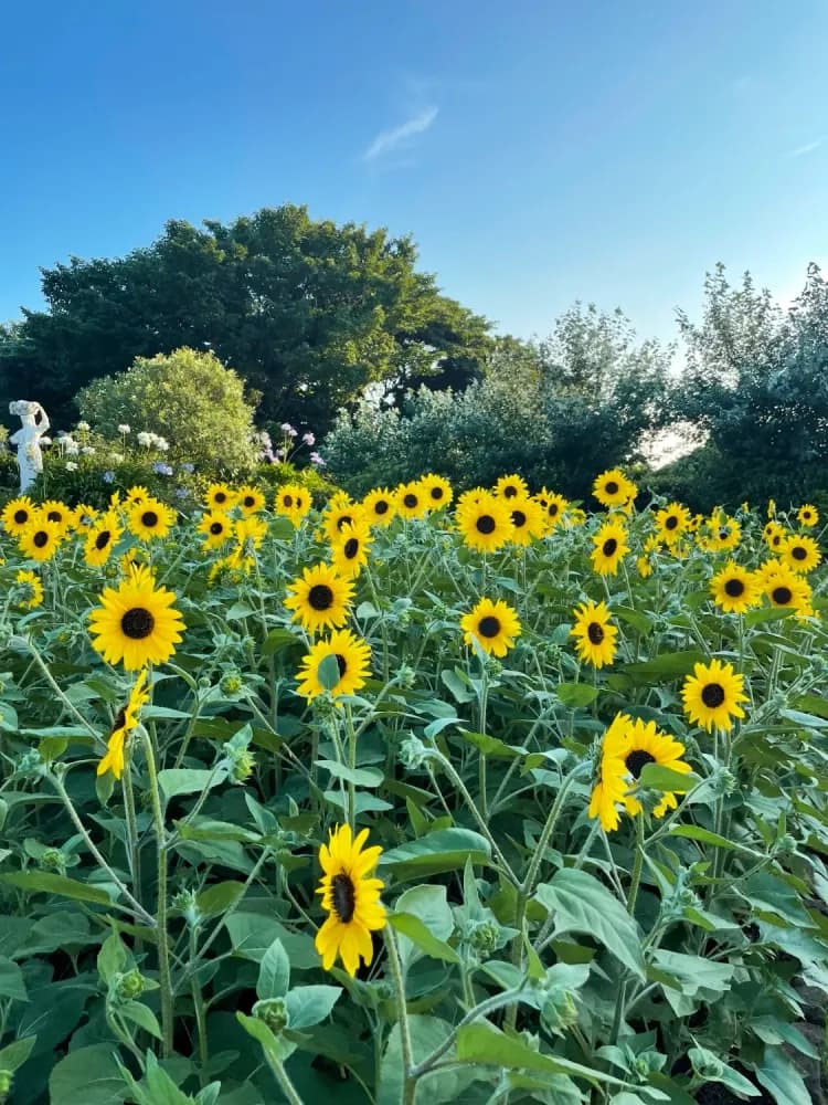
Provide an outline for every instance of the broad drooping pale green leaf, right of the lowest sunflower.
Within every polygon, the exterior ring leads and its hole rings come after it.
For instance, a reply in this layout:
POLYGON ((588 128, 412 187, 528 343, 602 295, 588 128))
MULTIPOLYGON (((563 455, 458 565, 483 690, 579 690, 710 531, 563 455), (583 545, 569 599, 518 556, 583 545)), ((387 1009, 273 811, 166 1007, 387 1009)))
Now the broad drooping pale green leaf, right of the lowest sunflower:
POLYGON ((593 875, 564 867, 541 883, 535 898, 554 914, 554 935, 586 933, 638 978, 645 977, 638 927, 622 903, 593 875))

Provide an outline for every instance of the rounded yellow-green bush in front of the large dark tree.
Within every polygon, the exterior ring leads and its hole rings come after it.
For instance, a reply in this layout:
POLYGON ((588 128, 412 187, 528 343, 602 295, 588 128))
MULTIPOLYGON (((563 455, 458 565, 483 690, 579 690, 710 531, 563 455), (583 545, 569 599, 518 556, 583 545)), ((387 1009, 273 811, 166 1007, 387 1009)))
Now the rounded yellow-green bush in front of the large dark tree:
POLYGON ((240 377, 212 352, 137 357, 126 372, 93 380, 75 402, 106 436, 115 438, 121 424, 151 431, 167 439, 171 459, 204 473, 233 475, 257 460, 255 408, 240 377))

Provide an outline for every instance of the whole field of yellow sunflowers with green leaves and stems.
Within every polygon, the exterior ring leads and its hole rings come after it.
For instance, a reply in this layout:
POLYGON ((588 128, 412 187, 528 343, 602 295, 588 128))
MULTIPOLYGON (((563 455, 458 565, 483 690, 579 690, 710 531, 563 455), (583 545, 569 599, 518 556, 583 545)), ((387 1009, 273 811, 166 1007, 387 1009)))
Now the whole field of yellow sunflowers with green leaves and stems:
POLYGON ((0 1102, 822 1099, 818 511, 593 493, 6 505, 0 1102))

